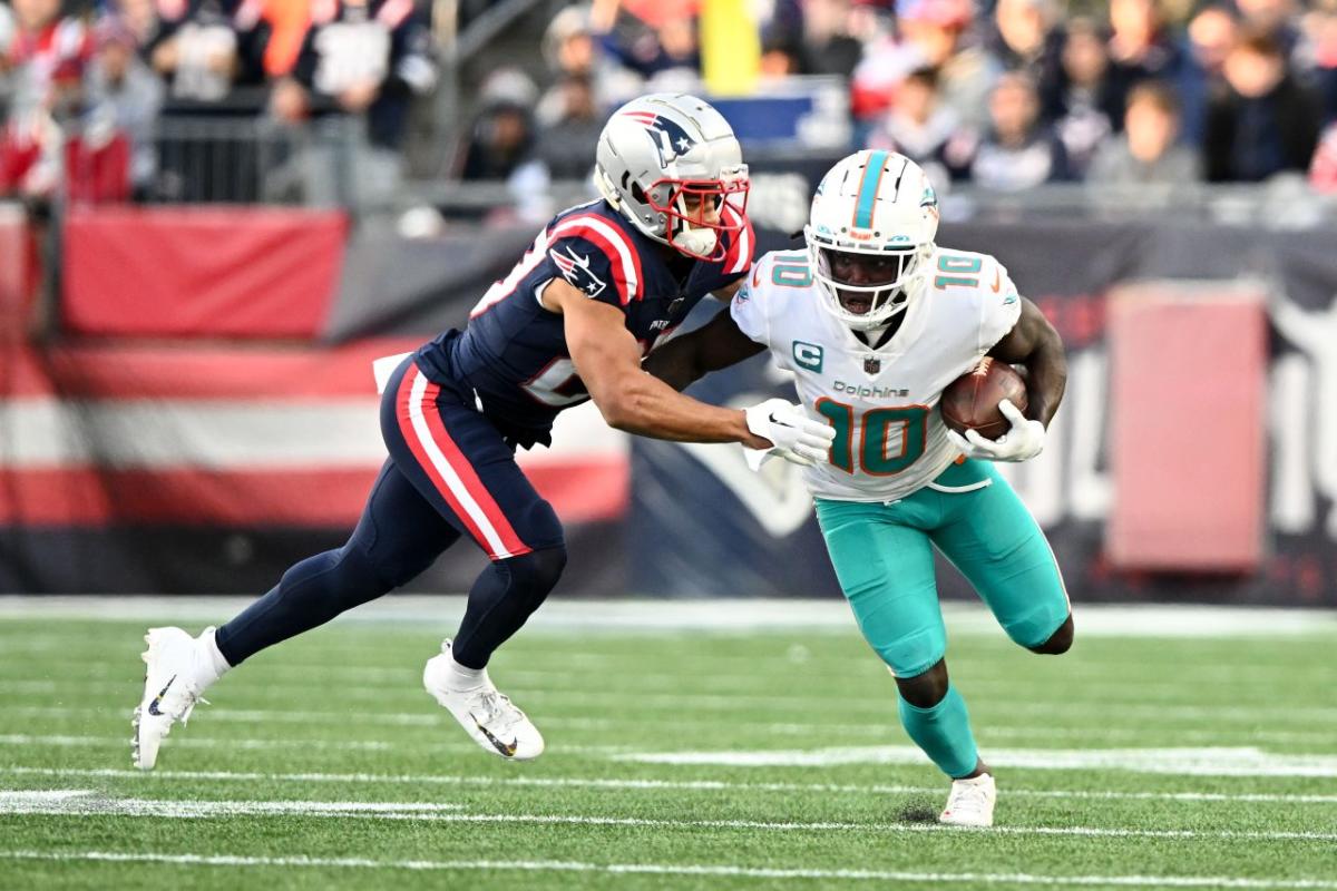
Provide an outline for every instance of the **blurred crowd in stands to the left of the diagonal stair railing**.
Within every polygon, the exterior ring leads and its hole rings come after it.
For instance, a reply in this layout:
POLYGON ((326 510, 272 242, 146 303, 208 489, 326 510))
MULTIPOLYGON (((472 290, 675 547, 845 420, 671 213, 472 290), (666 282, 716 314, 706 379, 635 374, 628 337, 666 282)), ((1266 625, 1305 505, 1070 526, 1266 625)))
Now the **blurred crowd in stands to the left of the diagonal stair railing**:
POLYGON ((95 200, 254 199, 197 175, 255 163, 238 122, 357 119, 394 158, 436 56, 414 0, 0 0, 0 196, 49 196, 67 171, 95 200))

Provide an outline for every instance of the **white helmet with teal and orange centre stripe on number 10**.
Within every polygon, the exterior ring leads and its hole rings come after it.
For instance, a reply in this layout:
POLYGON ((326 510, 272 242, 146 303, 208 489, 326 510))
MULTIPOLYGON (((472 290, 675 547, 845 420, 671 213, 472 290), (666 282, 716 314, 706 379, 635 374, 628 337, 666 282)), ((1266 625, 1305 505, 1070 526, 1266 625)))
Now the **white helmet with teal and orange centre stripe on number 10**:
POLYGON ((890 151, 844 158, 804 227, 822 309, 860 331, 886 325, 929 275, 936 235, 937 194, 919 164, 890 151))

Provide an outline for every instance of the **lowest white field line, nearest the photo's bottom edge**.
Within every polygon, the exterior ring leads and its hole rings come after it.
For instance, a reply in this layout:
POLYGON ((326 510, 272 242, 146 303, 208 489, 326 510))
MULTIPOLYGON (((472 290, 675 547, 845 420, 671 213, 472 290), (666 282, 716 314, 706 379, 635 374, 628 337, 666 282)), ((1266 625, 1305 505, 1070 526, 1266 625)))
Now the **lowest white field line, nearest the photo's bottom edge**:
POLYGON ((1239 879, 1183 875, 1032 875, 1028 872, 904 872, 890 870, 786 870, 705 863, 582 863, 579 860, 373 860, 368 858, 241 856, 231 854, 138 854, 134 851, 0 851, 9 860, 92 860, 221 867, 314 867, 409 871, 602 872, 608 875, 682 875, 738 879, 842 879, 850 882, 919 882, 933 884, 1122 886, 1159 888, 1337 888, 1325 879, 1239 879))

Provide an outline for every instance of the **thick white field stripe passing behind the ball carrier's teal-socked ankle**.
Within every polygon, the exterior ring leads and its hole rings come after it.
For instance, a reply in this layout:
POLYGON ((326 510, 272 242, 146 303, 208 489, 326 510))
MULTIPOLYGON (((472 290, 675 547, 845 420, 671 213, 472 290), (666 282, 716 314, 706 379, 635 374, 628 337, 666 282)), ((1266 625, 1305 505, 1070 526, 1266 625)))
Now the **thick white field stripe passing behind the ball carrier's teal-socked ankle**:
MULTIPOLYGON (((814 749, 713 752, 627 752, 616 761, 640 764, 709 764, 718 767, 832 767, 838 764, 925 764, 915 745, 862 745, 814 749)), ((1190 776, 1337 777, 1337 755, 1277 755, 1254 747, 1235 748, 991 748, 995 767, 1038 771, 1119 769, 1190 776)))

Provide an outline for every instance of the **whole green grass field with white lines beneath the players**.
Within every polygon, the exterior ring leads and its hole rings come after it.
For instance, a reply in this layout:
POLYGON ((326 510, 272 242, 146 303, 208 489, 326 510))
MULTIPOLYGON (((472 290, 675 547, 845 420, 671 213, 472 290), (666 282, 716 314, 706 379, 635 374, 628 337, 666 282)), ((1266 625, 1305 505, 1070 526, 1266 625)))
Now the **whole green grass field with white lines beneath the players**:
POLYGON ((0 609, 0 888, 1337 888, 1337 622, 1312 616, 1079 612, 1059 659, 949 618, 999 780, 969 831, 932 822, 947 785, 852 622, 540 622, 492 676, 548 751, 505 764, 421 689, 452 609, 345 620, 225 677, 140 775, 146 622, 0 609))

